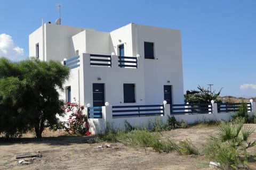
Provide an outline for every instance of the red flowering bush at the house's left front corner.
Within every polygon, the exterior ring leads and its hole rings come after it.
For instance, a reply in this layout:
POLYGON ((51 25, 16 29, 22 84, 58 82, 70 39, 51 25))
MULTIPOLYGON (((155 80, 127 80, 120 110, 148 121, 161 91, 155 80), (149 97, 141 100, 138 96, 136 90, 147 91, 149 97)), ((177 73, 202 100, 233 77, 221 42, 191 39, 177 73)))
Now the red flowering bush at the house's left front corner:
MULTIPOLYGON (((74 98, 75 99, 75 98, 74 98)), ((90 135, 89 123, 87 116, 83 114, 84 106, 80 106, 77 103, 67 102, 63 107, 66 114, 70 114, 66 122, 62 122, 67 131, 70 134, 90 135)))

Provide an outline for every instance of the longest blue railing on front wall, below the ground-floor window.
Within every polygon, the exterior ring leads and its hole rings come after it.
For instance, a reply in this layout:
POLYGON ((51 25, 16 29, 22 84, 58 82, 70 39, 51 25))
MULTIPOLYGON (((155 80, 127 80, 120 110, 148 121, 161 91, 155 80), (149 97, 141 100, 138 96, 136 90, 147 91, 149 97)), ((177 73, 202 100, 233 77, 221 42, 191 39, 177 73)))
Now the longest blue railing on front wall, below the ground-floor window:
POLYGON ((112 106, 113 118, 164 114, 164 105, 112 106))

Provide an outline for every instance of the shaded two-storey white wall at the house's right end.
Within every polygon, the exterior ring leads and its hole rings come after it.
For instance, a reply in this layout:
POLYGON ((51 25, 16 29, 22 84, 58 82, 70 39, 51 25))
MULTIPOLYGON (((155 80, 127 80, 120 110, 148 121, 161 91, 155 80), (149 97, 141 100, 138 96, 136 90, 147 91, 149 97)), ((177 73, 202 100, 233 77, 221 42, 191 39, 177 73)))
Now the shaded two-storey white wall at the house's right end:
POLYGON ((138 53, 143 58, 146 103, 164 99, 164 85, 172 85, 173 104, 183 103, 180 30, 133 24, 138 53), (137 37, 136 37, 137 36, 137 37), (144 42, 154 43, 154 59, 144 58, 144 42), (168 83, 167 81, 170 81, 168 83))

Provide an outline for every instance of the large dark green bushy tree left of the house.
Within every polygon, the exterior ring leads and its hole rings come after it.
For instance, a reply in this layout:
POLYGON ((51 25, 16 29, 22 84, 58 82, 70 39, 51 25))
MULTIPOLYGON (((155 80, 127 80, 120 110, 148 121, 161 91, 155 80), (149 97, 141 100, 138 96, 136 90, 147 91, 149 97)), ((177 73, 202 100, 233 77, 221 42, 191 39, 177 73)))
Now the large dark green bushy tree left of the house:
POLYGON ((44 128, 57 123, 56 114, 64 113, 57 89, 68 77, 68 67, 59 62, 0 58, 0 133, 17 137, 35 130, 42 138, 44 128))

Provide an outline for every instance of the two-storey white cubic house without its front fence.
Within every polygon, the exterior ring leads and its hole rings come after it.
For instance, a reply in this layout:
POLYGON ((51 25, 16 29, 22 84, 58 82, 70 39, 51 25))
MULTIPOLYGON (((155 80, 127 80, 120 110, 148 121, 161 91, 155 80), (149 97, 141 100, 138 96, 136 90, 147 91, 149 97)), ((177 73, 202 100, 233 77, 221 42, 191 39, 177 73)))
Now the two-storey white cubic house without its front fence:
POLYGON ((81 105, 183 103, 180 30, 130 23, 111 32, 44 23, 29 56, 71 69, 62 99, 81 105))

